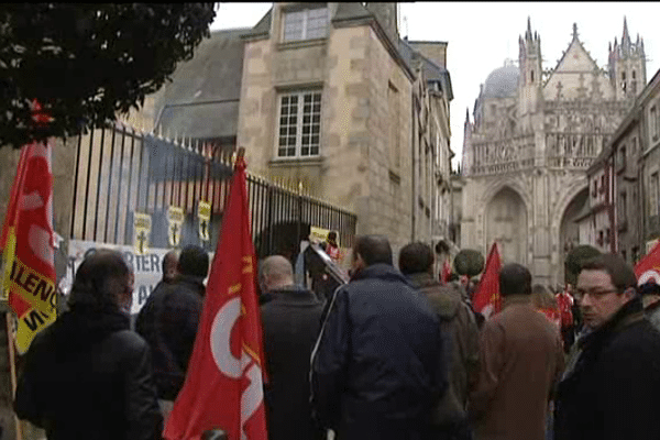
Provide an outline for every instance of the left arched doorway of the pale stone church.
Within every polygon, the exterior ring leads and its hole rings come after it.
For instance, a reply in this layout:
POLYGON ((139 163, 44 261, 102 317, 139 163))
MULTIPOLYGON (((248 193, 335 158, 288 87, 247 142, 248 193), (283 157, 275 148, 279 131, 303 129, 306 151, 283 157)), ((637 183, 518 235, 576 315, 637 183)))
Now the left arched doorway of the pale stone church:
POLYGON ((486 252, 499 243, 503 263, 527 264, 527 208, 518 193, 505 187, 486 206, 486 252))

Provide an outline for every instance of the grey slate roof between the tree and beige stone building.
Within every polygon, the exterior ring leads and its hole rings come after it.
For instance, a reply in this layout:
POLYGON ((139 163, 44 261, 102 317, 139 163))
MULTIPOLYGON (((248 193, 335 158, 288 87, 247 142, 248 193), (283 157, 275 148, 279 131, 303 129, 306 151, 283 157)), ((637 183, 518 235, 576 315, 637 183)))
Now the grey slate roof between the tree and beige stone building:
MULTIPOLYGON (((180 63, 161 99, 163 132, 196 139, 237 135, 245 29, 218 31, 180 63)), ((158 128, 156 127, 156 131, 158 128)))

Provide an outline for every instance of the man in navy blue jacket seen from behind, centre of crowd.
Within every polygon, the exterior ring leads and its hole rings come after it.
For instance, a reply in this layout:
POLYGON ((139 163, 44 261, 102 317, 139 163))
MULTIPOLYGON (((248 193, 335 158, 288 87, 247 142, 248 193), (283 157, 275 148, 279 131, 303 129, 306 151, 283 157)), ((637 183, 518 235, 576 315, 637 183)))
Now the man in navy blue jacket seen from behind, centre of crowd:
POLYGON ((312 353, 312 405, 341 440, 426 438, 447 389, 440 322, 393 267, 381 235, 359 237, 312 353))

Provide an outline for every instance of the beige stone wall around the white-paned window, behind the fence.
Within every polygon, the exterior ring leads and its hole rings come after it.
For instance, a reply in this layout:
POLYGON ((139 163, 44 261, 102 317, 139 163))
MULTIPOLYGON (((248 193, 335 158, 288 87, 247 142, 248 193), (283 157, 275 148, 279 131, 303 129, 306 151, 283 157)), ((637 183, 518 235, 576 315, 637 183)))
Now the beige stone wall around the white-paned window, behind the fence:
MULTIPOLYGON (((273 10, 272 35, 280 35, 273 10)), ((249 170, 358 215, 358 233, 410 238, 411 79, 369 25, 330 28, 320 41, 246 41, 238 145, 249 170), (318 88, 320 157, 278 158, 278 95, 318 88)))

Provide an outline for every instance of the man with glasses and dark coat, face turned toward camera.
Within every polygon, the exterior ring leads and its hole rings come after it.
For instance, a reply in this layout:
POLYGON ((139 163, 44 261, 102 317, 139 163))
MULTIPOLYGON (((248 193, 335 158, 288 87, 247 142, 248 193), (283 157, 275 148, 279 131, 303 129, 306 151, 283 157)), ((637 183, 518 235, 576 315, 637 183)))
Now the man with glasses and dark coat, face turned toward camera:
POLYGON ((618 255, 582 265, 575 299, 587 332, 559 384, 557 439, 660 439, 660 333, 636 286, 618 255))

